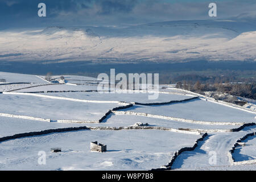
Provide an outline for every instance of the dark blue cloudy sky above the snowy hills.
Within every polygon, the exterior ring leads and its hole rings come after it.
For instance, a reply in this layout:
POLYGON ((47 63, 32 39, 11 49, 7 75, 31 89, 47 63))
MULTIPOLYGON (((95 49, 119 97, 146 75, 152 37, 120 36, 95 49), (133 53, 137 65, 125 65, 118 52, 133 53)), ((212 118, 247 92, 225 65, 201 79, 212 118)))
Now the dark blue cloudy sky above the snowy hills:
POLYGON ((0 0, 0 30, 10 27, 127 26, 170 20, 256 19, 255 0, 0 0), (46 4, 46 17, 38 4, 46 4))

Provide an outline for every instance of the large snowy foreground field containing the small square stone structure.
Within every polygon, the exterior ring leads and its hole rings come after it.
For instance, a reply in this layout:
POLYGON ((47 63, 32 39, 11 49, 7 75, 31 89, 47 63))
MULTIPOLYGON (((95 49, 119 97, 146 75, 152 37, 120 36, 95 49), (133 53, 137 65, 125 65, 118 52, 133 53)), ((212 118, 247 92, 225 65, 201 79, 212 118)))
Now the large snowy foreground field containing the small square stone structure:
POLYGON ((148 170, 167 164, 176 150, 192 146, 199 137, 156 130, 85 130, 9 140, 1 143, 0 169, 148 170), (94 140, 106 144, 108 151, 90 152, 94 140), (51 153, 56 146, 62 152, 51 153), (46 165, 38 165, 39 151, 46 152, 46 165))

